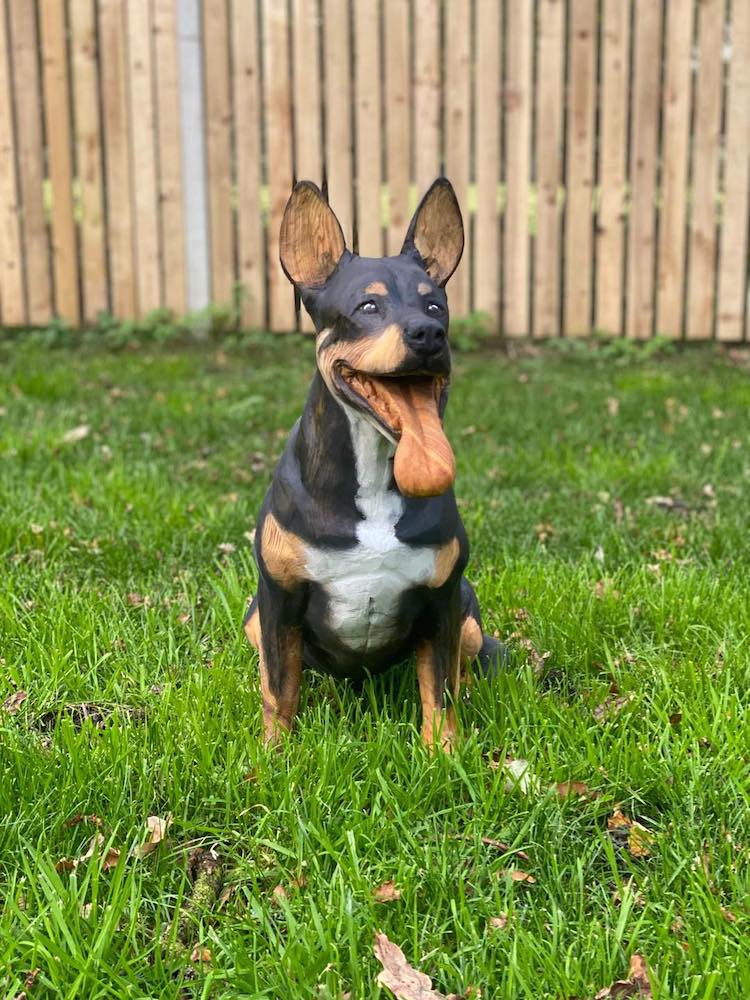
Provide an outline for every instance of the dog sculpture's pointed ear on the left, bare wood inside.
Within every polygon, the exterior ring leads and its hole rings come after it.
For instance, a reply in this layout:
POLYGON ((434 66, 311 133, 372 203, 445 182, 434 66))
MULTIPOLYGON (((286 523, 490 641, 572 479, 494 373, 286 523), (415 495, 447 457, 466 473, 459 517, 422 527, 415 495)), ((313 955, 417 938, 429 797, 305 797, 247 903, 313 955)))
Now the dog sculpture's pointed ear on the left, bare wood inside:
POLYGON ((279 257, 287 278, 303 288, 320 288, 346 252, 333 209, 310 181, 295 184, 284 209, 279 257))

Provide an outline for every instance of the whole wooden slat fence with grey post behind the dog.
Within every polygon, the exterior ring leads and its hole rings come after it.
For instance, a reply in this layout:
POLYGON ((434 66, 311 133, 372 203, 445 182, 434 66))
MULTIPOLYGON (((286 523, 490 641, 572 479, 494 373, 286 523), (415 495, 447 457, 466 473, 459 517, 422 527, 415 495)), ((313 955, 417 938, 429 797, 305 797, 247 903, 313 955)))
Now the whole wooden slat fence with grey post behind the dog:
POLYGON ((379 255, 439 173, 454 315, 747 339, 750 0, 0 0, 5 325, 308 329, 293 179, 379 255))

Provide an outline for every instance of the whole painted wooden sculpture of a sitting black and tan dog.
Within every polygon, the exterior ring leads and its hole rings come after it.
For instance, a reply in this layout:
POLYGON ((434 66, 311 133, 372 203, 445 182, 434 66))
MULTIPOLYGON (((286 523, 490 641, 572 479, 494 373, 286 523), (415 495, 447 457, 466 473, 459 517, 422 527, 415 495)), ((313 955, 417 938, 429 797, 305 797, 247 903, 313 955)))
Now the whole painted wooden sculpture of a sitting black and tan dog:
POLYGON ((496 666, 499 643, 483 635, 463 577, 469 546, 442 426, 443 289, 463 245, 443 179, 397 257, 348 251, 307 181, 286 206, 281 263, 315 323, 317 371, 255 533, 245 632, 260 654, 267 741, 291 728, 303 665, 361 677, 416 653, 423 739, 449 747, 462 658, 496 666))

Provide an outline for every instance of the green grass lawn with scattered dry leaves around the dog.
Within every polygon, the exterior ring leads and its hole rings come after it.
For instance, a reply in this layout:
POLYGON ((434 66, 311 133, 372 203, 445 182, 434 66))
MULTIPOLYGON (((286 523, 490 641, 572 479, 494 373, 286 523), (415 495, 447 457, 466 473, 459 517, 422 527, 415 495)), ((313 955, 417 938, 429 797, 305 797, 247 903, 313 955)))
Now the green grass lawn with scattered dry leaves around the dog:
POLYGON ((385 998, 380 930, 467 1000, 593 998, 633 954, 655 997, 750 996, 748 368, 458 358, 469 576, 513 654, 449 758, 409 665, 310 675, 261 745, 249 538, 311 366, 1 349, 0 995, 385 998), (196 848, 224 891, 181 951, 196 848))

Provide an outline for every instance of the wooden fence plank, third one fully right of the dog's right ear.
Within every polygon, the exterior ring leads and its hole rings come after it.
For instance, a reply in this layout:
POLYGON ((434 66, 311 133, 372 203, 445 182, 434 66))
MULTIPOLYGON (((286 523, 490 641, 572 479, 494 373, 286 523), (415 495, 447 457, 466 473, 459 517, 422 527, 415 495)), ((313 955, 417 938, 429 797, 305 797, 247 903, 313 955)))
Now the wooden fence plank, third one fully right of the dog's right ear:
POLYGON ((564 5, 540 0, 537 50, 534 336, 560 333, 560 208, 564 5))

